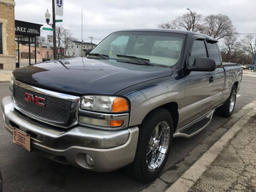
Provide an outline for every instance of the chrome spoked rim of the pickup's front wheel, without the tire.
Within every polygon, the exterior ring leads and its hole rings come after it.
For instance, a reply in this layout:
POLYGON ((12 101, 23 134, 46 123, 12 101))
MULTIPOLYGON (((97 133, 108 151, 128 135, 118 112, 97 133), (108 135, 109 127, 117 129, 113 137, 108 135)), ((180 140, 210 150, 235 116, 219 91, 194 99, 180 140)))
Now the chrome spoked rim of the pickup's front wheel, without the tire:
POLYGON ((169 141, 170 126, 166 121, 162 121, 156 125, 148 143, 146 161, 149 171, 154 171, 162 165, 169 141))

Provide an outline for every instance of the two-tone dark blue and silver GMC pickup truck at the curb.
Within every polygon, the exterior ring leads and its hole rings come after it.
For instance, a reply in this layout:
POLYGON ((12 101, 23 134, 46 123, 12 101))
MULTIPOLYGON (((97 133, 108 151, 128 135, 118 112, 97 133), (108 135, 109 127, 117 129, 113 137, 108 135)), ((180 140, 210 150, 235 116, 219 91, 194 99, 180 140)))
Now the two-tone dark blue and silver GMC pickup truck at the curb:
MULTIPOLYGON (((2 113, 13 142, 86 170, 127 166, 142 182, 163 170, 175 137, 229 117, 240 65, 217 39, 182 30, 122 30, 83 58, 16 69, 2 113)), ((8 153, 7 151, 5 153, 8 153)))

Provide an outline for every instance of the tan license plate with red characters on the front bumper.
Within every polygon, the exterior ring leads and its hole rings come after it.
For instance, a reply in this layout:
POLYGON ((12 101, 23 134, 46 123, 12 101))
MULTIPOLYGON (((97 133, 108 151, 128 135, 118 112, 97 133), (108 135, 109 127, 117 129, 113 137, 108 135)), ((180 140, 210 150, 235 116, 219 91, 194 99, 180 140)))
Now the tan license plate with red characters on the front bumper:
POLYGON ((13 140, 12 141, 13 141, 13 143, 30 151, 30 135, 28 135, 27 133, 13 128, 13 140))

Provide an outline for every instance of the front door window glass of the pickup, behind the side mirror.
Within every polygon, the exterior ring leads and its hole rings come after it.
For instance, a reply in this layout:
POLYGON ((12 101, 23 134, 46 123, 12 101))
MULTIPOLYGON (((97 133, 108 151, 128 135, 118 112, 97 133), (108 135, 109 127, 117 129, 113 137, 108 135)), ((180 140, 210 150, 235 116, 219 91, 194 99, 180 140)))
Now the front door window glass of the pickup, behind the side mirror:
POLYGON ((206 53, 204 41, 195 40, 191 49, 189 64, 193 65, 195 58, 198 58, 198 57, 207 58, 207 53, 206 53))

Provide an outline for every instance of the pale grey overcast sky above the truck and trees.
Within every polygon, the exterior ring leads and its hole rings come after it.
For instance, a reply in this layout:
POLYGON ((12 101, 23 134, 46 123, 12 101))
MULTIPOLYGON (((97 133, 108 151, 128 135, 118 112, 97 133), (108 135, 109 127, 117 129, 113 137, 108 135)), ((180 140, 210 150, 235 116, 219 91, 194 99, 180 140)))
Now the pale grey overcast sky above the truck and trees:
MULTIPOLYGON (((255 0, 63 0, 63 27, 81 39, 81 9, 83 7, 83 39, 89 36, 100 42, 113 31, 121 29, 157 28, 189 8, 203 15, 227 14, 238 33, 256 33, 255 0), (247 21, 244 21, 247 20, 247 21), (250 21, 249 21, 250 20, 250 21)), ((16 0, 15 19, 44 24, 46 9, 52 13, 52 0, 16 0)), ((57 25, 60 25, 59 23, 57 25)), ((45 25, 47 27, 47 25, 45 25)), ((42 29, 42 28, 41 28, 42 29)), ((42 36, 50 34, 43 31, 42 36)))

